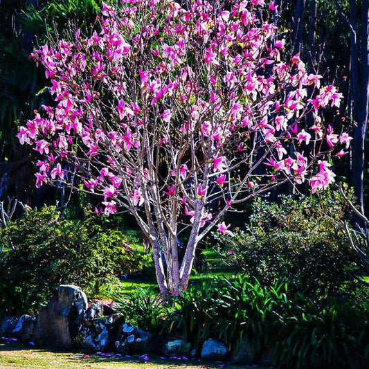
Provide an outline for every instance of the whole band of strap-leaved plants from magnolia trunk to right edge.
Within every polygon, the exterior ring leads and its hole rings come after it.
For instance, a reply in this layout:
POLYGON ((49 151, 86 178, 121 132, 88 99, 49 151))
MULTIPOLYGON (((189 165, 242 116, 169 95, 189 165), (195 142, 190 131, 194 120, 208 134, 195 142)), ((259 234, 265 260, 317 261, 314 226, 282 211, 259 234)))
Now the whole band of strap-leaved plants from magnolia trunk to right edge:
POLYGON ((238 276, 183 292, 168 314, 170 333, 199 350, 209 337, 237 352, 246 342, 257 362, 269 352, 282 368, 343 368, 369 357, 369 316, 341 300, 294 294, 285 282, 271 286, 238 276))

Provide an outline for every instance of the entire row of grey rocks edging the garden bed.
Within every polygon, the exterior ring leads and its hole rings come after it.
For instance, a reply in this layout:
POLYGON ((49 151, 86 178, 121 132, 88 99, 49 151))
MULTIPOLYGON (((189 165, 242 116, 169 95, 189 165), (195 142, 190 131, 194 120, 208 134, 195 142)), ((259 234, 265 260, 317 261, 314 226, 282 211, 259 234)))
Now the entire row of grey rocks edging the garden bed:
MULTIPOLYGON (((0 321, 0 336, 36 345, 81 349, 92 352, 118 352, 118 354, 159 354, 165 357, 195 357, 191 344, 168 337, 158 339, 149 332, 125 321, 124 314, 103 303, 88 305, 80 287, 61 285, 51 301, 42 308, 37 318, 23 315, 0 321)), ((226 346, 208 339, 201 348, 204 360, 228 359, 226 346)), ((251 363, 253 350, 244 343, 233 357, 233 362, 251 363)))

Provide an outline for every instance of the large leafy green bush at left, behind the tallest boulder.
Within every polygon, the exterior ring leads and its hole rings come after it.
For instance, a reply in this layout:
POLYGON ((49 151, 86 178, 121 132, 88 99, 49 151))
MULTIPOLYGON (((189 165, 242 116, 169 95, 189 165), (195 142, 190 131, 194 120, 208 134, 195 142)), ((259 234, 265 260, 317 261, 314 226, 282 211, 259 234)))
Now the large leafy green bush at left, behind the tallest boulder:
POLYGON ((0 230, 0 315, 39 309, 60 284, 94 296, 109 280, 141 271, 143 256, 132 241, 107 219, 63 219, 53 206, 10 222, 0 230))

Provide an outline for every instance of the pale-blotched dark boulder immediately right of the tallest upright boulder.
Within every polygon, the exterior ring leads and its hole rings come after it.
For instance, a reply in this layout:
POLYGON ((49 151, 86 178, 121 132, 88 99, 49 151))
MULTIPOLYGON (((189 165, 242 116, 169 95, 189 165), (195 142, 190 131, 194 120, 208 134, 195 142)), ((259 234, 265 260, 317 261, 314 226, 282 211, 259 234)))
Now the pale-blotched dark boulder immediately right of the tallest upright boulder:
POLYGON ((108 351, 114 348, 118 327, 123 316, 114 314, 84 321, 75 340, 78 348, 91 351, 108 351))

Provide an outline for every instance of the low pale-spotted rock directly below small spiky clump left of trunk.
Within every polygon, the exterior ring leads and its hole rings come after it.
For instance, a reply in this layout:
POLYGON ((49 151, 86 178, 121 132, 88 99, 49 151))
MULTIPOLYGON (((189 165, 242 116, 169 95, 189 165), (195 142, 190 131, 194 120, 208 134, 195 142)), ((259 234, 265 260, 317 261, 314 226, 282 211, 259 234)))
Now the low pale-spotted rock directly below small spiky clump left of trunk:
POLYGON ((115 346, 120 354, 155 353, 159 349, 159 343, 154 341, 152 334, 138 330, 129 323, 120 325, 115 346))

